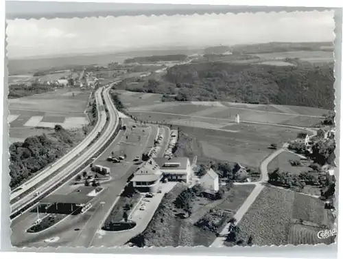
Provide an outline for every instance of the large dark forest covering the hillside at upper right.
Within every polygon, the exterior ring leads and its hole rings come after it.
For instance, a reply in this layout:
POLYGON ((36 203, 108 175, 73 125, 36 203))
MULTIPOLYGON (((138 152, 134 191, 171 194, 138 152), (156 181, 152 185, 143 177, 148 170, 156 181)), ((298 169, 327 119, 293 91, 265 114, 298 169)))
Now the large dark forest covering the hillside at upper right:
POLYGON ((333 109, 332 65, 278 67, 255 64, 197 63, 167 69, 178 101, 229 100, 333 109))

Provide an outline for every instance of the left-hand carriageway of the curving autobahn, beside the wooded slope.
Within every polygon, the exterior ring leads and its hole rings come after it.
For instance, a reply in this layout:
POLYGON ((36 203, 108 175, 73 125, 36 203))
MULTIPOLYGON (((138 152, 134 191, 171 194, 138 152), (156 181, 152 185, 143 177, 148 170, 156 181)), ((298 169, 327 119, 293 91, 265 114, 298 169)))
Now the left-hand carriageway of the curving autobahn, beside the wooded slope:
MULTIPOLYGON (((99 88, 95 92, 95 101, 96 101, 98 107, 102 106, 101 92, 102 92, 102 88, 99 88)), ((78 146, 75 146, 75 148, 73 148, 69 153, 67 153, 67 155, 64 155, 64 157, 58 159, 58 161, 54 162, 54 164, 51 164, 49 167, 45 168, 41 172, 38 172, 34 177, 27 180, 25 183, 20 185, 18 188, 14 189, 14 192, 13 191, 11 192, 10 201, 14 201, 14 199, 21 196, 25 192, 27 192, 27 190, 29 190, 29 188, 34 187, 40 181, 43 181, 43 179, 49 177, 50 174, 52 174, 56 170, 62 168, 62 166, 69 163, 70 161, 72 161, 72 159, 75 159, 75 157, 78 155, 78 153, 80 153, 82 150, 84 150, 84 148, 86 148, 86 146, 88 146, 91 143, 91 141, 95 138, 97 133, 99 131, 102 131, 102 128, 104 128, 104 126, 106 124, 106 118, 104 118, 104 116, 106 116, 106 113, 104 111, 99 111, 99 109, 98 109, 97 115, 98 115, 98 120, 97 120, 97 123, 95 124, 93 130, 91 131, 91 133, 89 133, 84 138, 84 140, 80 144, 78 144, 78 146), (22 188, 22 189, 18 190, 19 188, 22 188)))

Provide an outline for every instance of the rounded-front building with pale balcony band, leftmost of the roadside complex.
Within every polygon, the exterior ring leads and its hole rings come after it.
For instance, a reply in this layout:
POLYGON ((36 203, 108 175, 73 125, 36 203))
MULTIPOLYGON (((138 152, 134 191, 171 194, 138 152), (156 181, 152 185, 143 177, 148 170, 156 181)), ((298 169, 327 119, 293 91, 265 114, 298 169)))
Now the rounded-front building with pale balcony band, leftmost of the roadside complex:
POLYGON ((157 192, 162 177, 158 164, 150 159, 137 172, 134 172, 134 177, 130 181, 139 192, 157 192))

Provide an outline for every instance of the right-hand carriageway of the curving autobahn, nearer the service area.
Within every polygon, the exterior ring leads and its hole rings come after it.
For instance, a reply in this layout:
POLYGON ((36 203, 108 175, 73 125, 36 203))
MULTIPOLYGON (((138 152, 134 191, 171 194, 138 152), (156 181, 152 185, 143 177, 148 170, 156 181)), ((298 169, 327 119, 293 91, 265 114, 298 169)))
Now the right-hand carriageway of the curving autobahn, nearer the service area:
MULTIPOLYGON (((118 115, 117 110, 115 109, 115 106, 110 100, 110 96, 108 95, 109 89, 105 89, 104 91, 104 99, 108 107, 108 111, 110 114, 110 120, 108 123, 108 127, 104 131, 104 134, 102 134, 99 139, 97 139, 97 142, 93 144, 90 148, 88 148, 84 153, 81 155, 78 154, 77 158, 72 161, 71 164, 69 164, 66 168, 64 168, 61 172, 59 172, 54 177, 51 177, 44 185, 40 185, 36 189, 36 191, 40 192, 40 195, 44 195, 45 192, 49 191, 52 187, 54 187, 56 184, 58 184, 62 179, 66 178, 71 174, 78 166, 84 163, 89 157, 92 157, 93 154, 97 152, 110 138, 111 135, 113 135, 113 132, 115 131, 115 128, 118 124, 118 115)), ((106 112, 102 111, 102 115, 100 116, 100 120, 105 120, 106 123, 106 112)), ((30 194, 25 196, 23 199, 21 199, 19 202, 15 203, 12 206, 12 211, 17 210, 21 207, 23 207, 25 204, 29 203, 34 199, 34 194, 30 194)))

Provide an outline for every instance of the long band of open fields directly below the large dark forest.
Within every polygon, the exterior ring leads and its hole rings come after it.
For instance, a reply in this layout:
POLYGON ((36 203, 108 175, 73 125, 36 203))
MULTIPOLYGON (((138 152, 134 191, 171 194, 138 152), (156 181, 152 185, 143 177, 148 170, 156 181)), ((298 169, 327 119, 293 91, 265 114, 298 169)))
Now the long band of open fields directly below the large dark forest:
POLYGON ((119 91, 123 104, 132 113, 155 113, 164 116, 180 115, 189 117, 211 117, 218 121, 235 120, 239 114, 241 121, 286 124, 291 126, 315 126, 329 111, 301 106, 274 104, 244 104, 235 102, 161 102, 161 95, 119 91), (144 98, 143 98, 144 97, 144 98))

